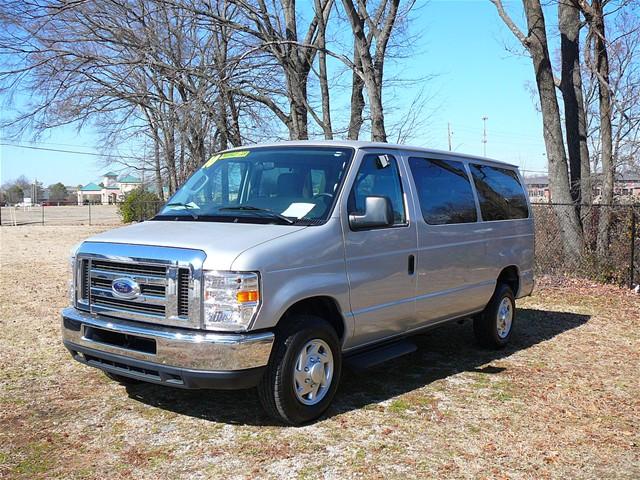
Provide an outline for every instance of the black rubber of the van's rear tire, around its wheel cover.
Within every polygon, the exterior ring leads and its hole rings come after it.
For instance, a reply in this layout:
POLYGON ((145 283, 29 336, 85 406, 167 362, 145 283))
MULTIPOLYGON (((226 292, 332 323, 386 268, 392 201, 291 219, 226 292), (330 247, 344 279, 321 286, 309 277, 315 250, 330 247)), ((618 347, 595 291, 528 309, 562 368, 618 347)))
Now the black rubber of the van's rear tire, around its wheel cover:
MULTIPOLYGON (((483 347, 503 348, 511 339, 515 321, 516 301, 513 290, 508 285, 499 283, 483 312, 473 319, 473 333, 483 347), (499 333, 498 325, 500 305, 505 299, 511 303, 511 326, 506 335, 499 333)), ((504 332, 504 329, 502 331, 504 332)))

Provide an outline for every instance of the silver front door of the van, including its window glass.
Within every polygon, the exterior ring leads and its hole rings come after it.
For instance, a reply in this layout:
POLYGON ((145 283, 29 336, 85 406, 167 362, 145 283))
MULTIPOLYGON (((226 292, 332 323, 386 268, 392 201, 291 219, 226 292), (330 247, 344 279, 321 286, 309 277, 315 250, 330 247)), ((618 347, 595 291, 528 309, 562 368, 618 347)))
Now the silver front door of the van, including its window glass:
POLYGON ((353 346, 404 332, 415 317, 417 234, 409 212, 414 205, 401 157, 365 153, 351 184, 342 221, 351 310, 353 346), (381 155, 384 158, 381 160, 381 155), (354 230, 348 216, 363 214, 367 196, 386 197, 393 225, 354 230))

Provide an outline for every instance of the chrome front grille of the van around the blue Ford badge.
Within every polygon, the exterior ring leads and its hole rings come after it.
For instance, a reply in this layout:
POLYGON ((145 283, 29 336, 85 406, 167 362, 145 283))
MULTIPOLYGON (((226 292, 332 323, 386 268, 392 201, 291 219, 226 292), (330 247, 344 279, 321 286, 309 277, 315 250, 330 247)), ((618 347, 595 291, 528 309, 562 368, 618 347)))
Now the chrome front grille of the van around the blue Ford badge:
POLYGON ((91 244, 83 244, 77 256, 77 308, 129 320, 200 327, 202 252, 137 245, 93 245, 96 252, 90 250, 91 244), (123 255, 125 252, 129 255, 123 255), (191 252, 187 259, 185 252, 191 252), (140 253, 155 253, 160 258, 145 258, 140 253), (134 293, 118 292, 114 288, 118 280, 135 285, 134 293))

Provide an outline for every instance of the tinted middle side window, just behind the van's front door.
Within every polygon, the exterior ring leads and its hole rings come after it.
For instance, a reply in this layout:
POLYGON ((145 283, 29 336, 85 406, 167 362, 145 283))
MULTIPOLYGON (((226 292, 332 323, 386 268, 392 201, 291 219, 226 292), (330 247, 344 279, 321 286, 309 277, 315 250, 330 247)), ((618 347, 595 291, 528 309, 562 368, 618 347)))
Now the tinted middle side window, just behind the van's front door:
POLYGON ((475 222, 471 182, 462 162, 410 158, 424 221, 431 225, 475 222))

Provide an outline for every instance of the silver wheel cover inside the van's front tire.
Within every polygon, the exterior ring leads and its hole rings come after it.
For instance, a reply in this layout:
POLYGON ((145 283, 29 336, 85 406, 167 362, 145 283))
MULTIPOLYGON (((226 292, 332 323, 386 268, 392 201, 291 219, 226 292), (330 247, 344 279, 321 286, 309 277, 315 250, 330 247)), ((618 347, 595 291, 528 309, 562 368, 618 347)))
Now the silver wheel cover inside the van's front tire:
POLYGON ((308 341, 300 353, 293 372, 293 389, 304 405, 315 405, 329 391, 333 380, 331 348, 319 338, 308 341))

